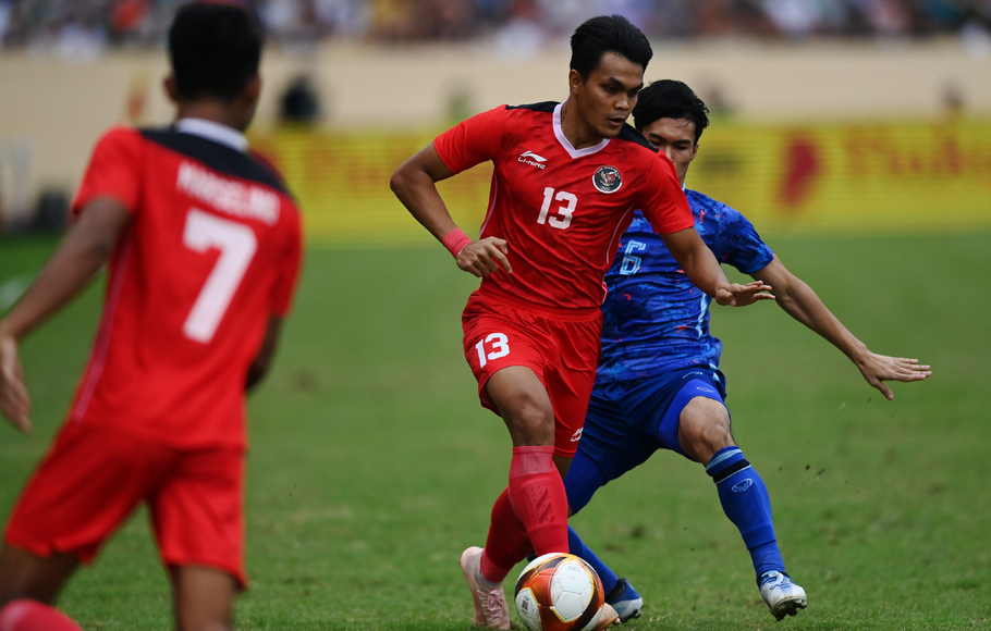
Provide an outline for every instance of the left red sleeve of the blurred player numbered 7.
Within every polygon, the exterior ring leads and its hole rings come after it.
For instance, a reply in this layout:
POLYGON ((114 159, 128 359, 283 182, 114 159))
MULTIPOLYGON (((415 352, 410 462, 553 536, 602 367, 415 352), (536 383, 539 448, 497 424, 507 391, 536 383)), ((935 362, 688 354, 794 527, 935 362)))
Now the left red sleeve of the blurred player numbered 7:
POLYGON ((135 129, 115 127, 96 144, 83 183, 72 203, 78 213, 96 197, 117 198, 129 212, 135 212, 140 198, 142 144, 135 129))

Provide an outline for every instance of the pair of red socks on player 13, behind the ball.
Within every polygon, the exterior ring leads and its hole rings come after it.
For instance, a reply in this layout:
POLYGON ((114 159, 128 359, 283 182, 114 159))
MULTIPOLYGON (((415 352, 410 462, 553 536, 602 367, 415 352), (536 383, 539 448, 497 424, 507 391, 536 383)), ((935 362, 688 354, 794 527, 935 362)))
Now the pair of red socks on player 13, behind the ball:
POLYGON ((481 556, 490 581, 501 582, 531 550, 567 552, 567 495, 553 457, 552 446, 513 447, 510 485, 492 507, 481 556))

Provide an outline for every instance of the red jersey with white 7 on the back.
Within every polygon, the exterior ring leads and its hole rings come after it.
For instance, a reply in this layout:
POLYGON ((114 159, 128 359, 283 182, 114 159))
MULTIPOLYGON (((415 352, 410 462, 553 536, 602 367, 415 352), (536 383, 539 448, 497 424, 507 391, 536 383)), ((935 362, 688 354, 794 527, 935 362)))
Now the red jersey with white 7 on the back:
POLYGON ((115 128, 94 150, 73 211, 110 196, 132 219, 70 422, 243 446, 247 370, 296 285, 299 213, 277 173, 224 141, 240 133, 192 123, 115 128))

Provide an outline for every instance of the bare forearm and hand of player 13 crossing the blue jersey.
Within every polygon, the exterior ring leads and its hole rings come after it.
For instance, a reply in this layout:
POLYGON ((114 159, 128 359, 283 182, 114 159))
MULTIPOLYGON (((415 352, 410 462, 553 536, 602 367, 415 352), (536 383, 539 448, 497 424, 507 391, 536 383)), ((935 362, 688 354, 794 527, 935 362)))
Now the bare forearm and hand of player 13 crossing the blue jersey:
POLYGON ((723 306, 745 307, 758 300, 773 300, 771 285, 761 281, 746 284, 731 283, 722 267, 712 255, 698 232, 688 227, 678 232, 663 234, 664 245, 674 256, 692 283, 712 296, 723 306))

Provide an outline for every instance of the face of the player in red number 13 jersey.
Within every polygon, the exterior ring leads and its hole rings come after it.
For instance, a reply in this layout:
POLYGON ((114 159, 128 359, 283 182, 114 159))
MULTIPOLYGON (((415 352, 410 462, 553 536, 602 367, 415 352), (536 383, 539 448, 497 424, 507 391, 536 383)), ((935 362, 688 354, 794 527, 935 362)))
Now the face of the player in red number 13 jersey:
POLYGON ((568 81, 582 127, 579 135, 595 145, 603 138, 614 138, 623 128, 644 87, 644 66, 607 52, 588 78, 583 79, 577 71, 572 71, 568 81))

